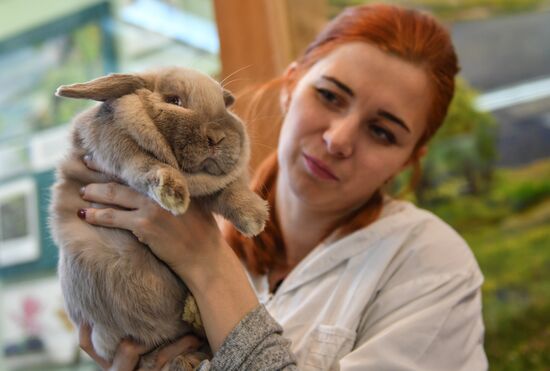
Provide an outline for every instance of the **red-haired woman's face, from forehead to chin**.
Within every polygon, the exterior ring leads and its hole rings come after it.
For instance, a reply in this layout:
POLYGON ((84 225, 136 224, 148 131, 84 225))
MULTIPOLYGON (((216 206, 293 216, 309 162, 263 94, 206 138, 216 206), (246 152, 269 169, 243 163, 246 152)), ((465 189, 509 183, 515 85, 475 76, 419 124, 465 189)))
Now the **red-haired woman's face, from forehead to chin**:
POLYGON ((289 98, 279 140, 280 181, 327 212, 361 206, 402 170, 425 130, 426 73, 367 43, 318 61, 289 98))

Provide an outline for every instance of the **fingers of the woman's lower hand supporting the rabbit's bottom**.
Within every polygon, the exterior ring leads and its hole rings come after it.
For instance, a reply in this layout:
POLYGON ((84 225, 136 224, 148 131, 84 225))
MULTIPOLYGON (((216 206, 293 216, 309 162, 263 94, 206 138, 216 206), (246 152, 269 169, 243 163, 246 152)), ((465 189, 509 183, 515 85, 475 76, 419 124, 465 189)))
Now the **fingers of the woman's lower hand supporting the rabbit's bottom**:
MULTIPOLYGON (((95 363, 105 371, 133 371, 138 366, 140 357, 147 352, 147 348, 131 340, 122 340, 115 353, 113 362, 101 358, 95 351, 92 344, 92 328, 88 324, 79 327, 80 348, 85 351, 95 363)), ((152 370, 160 370, 164 365, 182 353, 189 353, 199 349, 200 340, 193 335, 186 335, 176 342, 161 349, 155 357, 155 364, 152 370)))

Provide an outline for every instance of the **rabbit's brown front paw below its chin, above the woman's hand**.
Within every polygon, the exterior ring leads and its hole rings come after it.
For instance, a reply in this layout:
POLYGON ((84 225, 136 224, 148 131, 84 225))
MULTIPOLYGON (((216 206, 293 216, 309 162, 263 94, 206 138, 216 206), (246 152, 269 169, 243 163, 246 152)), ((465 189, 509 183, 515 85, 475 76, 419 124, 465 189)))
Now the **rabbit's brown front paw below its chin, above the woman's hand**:
POLYGON ((172 214, 183 214, 189 207, 187 185, 166 169, 157 170, 155 178, 150 188, 153 198, 172 214))

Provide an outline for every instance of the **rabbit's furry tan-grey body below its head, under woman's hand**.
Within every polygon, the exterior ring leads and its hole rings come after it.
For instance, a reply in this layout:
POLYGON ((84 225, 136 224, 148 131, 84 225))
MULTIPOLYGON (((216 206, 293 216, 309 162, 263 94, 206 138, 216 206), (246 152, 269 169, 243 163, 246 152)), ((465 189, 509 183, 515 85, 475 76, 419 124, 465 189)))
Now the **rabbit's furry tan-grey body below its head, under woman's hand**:
MULTIPOLYGON (((124 230, 96 227, 75 214, 89 203, 80 187, 94 174, 73 151, 58 169, 51 213, 60 247, 59 279, 70 318, 91 323, 97 353, 111 359, 120 340, 131 337, 155 348, 191 327, 182 320, 187 289, 136 237, 124 230), (75 209, 76 207, 76 209, 75 209)), ((96 205, 97 206, 97 205, 96 205)))

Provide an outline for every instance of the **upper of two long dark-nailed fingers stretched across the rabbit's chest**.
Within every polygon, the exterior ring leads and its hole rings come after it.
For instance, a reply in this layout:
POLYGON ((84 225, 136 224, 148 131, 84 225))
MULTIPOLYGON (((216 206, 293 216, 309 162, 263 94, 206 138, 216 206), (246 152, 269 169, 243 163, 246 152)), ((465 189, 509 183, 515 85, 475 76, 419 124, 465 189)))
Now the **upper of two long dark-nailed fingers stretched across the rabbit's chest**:
POLYGON ((92 183, 80 189, 80 195, 86 201, 117 205, 126 209, 136 209, 145 196, 132 188, 119 183, 92 183))

